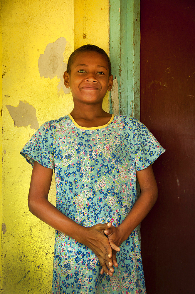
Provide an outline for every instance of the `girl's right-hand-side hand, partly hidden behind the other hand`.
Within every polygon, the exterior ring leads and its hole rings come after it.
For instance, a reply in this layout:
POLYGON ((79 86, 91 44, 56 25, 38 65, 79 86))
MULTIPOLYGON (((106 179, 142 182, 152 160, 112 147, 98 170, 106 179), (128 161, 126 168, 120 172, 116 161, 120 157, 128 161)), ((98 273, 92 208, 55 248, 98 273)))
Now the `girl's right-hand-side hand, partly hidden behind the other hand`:
MULTIPOLYGON (((122 243, 120 228, 112 225, 110 228, 105 229, 104 233, 108 236, 112 248, 112 263, 115 267, 118 267, 116 253, 120 251, 119 246, 122 243)), ((100 273, 103 273, 102 269, 100 273)))

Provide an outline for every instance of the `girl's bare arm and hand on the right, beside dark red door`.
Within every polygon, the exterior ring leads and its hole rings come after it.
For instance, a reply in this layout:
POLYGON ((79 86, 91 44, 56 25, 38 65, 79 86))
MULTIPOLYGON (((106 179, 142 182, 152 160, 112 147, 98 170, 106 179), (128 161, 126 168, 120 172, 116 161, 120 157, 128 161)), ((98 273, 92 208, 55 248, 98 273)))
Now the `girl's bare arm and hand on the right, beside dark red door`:
POLYGON ((137 180, 141 189, 141 193, 131 211, 126 216, 125 220, 118 226, 112 226, 104 232, 108 235, 110 245, 112 247, 113 265, 117 266, 115 249, 120 244, 127 240, 132 231, 139 225, 139 223, 147 216, 154 203, 157 201, 158 189, 157 183, 152 170, 152 165, 136 172, 137 180))

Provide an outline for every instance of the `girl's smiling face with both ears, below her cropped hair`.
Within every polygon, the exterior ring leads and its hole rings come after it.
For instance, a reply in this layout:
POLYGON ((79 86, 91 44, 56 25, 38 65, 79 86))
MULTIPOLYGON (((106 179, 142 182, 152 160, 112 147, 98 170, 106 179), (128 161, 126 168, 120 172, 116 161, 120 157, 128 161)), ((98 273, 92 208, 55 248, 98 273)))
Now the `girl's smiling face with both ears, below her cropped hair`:
POLYGON ((107 90, 112 89, 112 82, 105 56, 94 51, 78 53, 71 73, 64 73, 64 84, 70 87, 73 100, 84 104, 102 103, 107 90))

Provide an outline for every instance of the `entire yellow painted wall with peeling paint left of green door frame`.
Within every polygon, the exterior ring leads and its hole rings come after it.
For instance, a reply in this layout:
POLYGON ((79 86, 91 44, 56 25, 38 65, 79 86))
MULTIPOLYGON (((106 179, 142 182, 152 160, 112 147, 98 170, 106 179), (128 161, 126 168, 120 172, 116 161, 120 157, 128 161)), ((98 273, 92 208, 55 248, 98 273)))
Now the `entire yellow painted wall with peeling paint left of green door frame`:
MULTIPOLYGON (((96 44, 109 53, 109 1, 7 0, 1 6, 1 293, 51 293, 55 231, 28 211, 32 169, 19 151, 38 125, 73 108, 71 93, 59 85, 61 69, 74 48, 96 44)), ((104 109, 109 109, 108 96, 104 109)), ((49 199, 55 203, 54 181, 52 185, 49 199)))

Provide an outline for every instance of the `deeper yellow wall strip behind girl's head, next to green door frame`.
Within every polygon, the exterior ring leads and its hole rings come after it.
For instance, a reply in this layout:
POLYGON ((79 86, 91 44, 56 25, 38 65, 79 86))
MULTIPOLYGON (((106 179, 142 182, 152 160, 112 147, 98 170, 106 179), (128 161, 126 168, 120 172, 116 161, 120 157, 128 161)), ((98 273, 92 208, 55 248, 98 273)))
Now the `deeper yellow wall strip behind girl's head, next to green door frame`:
MULTIPOLYGON (((82 45, 97 45, 109 55, 110 22, 108 0, 74 0, 75 49, 82 45)), ((103 109, 110 110, 109 93, 103 100, 103 109)))

